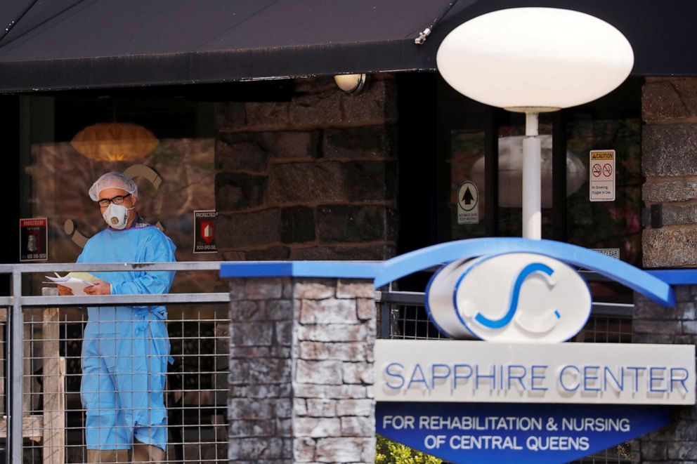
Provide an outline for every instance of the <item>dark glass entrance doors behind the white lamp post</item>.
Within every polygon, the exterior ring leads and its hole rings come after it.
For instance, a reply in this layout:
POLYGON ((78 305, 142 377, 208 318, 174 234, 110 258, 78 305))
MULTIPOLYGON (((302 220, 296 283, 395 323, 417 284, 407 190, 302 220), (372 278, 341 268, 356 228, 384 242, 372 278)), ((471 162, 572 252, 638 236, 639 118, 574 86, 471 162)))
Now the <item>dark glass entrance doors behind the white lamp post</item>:
MULTIPOLYGON (((438 241, 521 237, 523 114, 486 107, 441 82, 438 241), (460 220, 463 191, 479 190, 478 222, 460 220)), ((641 266, 641 79, 582 107, 540 114, 542 237, 602 249, 641 266), (615 200, 590 201, 591 150, 615 150, 615 200)), ((470 199, 467 197, 467 199, 470 199)), ((594 279, 594 296, 631 292, 594 279)))

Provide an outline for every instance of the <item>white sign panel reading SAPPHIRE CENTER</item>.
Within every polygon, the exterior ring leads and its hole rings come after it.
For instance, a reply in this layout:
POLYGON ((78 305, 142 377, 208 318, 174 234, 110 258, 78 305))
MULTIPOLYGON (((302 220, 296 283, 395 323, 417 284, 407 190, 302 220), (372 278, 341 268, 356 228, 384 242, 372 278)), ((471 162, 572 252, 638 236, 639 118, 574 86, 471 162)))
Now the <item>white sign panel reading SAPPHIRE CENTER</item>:
POLYGON ((695 404, 694 345, 377 340, 379 402, 695 404))

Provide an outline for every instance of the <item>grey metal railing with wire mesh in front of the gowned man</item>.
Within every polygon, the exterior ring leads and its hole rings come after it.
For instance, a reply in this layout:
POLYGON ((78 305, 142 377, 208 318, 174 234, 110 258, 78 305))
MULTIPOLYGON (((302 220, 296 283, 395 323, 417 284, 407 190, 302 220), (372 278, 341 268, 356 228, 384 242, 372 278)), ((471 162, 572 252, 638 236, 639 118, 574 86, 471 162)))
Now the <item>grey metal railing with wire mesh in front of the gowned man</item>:
POLYGON ((22 295, 48 266, 0 297, 1 461, 227 462, 229 294, 22 295))

